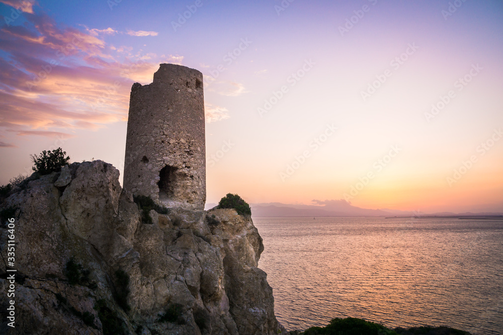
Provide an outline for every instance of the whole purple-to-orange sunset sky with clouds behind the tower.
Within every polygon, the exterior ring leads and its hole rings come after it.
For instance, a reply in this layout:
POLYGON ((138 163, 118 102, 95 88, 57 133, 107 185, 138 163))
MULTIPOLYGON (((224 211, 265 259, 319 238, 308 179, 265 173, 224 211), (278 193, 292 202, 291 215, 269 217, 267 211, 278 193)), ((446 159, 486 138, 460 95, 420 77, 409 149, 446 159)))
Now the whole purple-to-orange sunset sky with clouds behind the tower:
MULTIPOLYGON (((121 172, 134 82, 204 76, 207 203, 503 211, 503 2, 0 0, 0 183, 121 172)), ((122 181, 122 180, 121 180, 122 181)))

